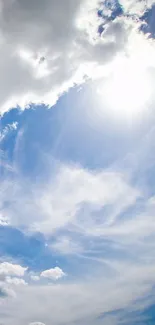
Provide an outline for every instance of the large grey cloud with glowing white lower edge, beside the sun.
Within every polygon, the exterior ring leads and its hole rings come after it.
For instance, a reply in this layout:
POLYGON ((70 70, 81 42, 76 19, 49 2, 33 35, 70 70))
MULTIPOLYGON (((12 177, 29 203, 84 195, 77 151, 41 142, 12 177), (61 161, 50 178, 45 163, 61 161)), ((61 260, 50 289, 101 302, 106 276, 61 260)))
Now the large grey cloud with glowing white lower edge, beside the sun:
MULTIPOLYGON (((140 10, 138 1, 121 4, 127 13, 140 10)), ((51 106, 86 75, 96 78, 101 66, 126 54, 131 30, 137 33, 135 22, 127 15, 107 19, 100 36, 99 7, 98 0, 45 0, 44 6, 37 0, 1 1, 1 112, 31 102, 51 106)))

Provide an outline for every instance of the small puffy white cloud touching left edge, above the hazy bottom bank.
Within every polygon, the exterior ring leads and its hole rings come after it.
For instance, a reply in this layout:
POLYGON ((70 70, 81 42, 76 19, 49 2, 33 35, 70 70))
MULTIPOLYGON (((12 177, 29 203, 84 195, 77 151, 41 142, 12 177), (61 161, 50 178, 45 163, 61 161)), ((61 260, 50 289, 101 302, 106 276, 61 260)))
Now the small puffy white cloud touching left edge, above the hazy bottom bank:
POLYGON ((8 262, 0 263, 0 275, 2 276, 23 276, 27 268, 18 264, 12 264, 8 262))

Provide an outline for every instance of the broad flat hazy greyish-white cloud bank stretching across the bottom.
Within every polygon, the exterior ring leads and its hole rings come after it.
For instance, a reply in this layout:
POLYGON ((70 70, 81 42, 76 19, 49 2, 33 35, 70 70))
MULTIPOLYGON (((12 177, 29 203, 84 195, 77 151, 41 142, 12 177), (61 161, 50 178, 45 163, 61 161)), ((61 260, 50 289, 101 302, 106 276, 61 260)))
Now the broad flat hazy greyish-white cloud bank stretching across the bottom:
MULTIPOLYGON (((133 308, 135 301, 152 287, 154 268, 150 272, 150 267, 141 269, 141 265, 132 268, 129 264, 127 267, 119 269, 121 273, 118 271, 117 274, 109 269, 110 276, 105 277, 104 265, 100 269, 100 277, 91 278, 89 274, 89 279, 85 282, 78 280, 76 284, 28 286, 20 291, 14 301, 9 302, 9 316, 12 321, 16 319, 17 324, 29 323, 31 319, 41 319, 47 325, 75 322, 103 324, 103 319, 98 319, 101 314, 120 308, 133 308), (103 292, 106 294, 103 295, 103 292)), ((141 302, 136 301, 136 304, 137 309, 141 310, 141 302)), ((3 311, 6 310, 8 303, 3 306, 3 311)), ((9 317, 6 322, 10 325, 9 317)), ((116 324, 119 324, 119 319, 116 324)))

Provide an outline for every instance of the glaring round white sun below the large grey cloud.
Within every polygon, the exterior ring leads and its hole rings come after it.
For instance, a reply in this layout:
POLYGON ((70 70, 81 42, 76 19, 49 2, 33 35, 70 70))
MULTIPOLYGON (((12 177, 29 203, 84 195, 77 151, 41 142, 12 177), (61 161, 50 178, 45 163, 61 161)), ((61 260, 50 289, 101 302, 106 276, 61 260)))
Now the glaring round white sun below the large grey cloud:
POLYGON ((148 109, 151 82, 146 68, 130 59, 116 61, 108 81, 100 88, 106 107, 122 118, 136 118, 148 109))

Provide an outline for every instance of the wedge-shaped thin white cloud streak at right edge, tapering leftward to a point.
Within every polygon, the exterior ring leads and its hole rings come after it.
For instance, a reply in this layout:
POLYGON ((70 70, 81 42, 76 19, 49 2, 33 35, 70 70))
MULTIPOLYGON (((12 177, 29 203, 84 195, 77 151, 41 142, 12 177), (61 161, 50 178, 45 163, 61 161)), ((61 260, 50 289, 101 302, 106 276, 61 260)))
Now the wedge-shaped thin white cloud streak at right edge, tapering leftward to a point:
POLYGON ((111 224, 111 227, 106 224, 102 228, 96 225, 96 227, 88 227, 86 233, 91 236, 116 239, 118 242, 126 244, 136 242, 140 244, 145 238, 153 235, 155 231, 154 207, 154 197, 149 198, 149 200, 144 199, 139 211, 136 211, 135 205, 134 212, 131 215, 126 211, 124 218, 118 218, 117 222, 111 224))

